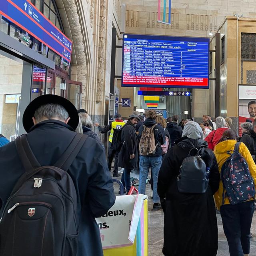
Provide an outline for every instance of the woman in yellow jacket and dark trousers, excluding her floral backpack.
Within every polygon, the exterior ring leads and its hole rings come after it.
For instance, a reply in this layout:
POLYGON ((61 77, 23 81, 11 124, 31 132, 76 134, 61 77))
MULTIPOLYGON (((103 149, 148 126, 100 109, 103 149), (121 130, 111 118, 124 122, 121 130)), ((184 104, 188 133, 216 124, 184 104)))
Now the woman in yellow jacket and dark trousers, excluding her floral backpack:
MULTIPOLYGON (((236 132, 226 130, 218 145, 215 146, 214 154, 216 156, 219 172, 222 165, 230 157, 228 151, 234 150, 237 135, 236 132)), ((241 142, 239 153, 246 160, 250 174, 256 184, 256 165, 248 148, 241 142)), ((215 202, 218 210, 220 210, 224 233, 228 240, 230 256, 248 256, 250 253, 250 228, 252 224, 252 216, 254 213, 254 201, 250 199, 240 204, 230 204, 227 197, 222 205, 223 185, 220 180, 218 191, 214 194, 215 202)))

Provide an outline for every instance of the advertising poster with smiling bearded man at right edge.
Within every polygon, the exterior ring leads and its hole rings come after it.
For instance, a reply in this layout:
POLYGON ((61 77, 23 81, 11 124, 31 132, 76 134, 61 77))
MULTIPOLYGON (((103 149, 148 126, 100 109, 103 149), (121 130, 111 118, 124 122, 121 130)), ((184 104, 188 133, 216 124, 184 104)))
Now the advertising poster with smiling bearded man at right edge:
POLYGON ((239 86, 239 136, 242 136, 240 124, 253 122, 256 118, 256 86, 239 86))

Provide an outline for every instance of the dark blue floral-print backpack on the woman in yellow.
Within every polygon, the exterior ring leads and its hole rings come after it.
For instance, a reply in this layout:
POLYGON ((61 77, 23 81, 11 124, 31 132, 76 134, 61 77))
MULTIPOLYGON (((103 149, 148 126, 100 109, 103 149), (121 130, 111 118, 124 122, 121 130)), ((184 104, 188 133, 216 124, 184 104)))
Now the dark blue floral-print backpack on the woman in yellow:
POLYGON ((223 183, 222 204, 227 196, 230 204, 239 204, 255 196, 254 180, 246 160, 239 153, 240 143, 236 143, 233 154, 223 164, 220 178, 223 183), (225 194, 226 190, 226 194, 225 194))

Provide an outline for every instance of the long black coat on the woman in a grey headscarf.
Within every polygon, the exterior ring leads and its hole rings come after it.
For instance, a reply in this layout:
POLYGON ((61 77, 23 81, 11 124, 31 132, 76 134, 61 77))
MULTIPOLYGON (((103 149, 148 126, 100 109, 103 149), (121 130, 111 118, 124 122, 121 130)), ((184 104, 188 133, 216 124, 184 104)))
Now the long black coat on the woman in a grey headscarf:
POLYGON ((220 174, 216 158, 203 140, 186 137, 166 154, 159 175, 158 195, 163 204, 165 256, 216 256, 218 228, 213 194, 218 190, 220 174), (209 186, 204 194, 178 192, 177 176, 192 147, 200 148, 210 167, 209 186), (166 198, 166 201, 163 200, 166 198))

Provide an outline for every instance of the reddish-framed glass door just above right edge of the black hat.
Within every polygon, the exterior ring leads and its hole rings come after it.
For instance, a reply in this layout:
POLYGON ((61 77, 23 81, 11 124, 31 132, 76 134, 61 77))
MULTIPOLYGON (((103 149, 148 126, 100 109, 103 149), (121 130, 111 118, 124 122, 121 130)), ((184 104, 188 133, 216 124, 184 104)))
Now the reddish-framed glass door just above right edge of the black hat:
POLYGON ((82 83, 72 80, 66 80, 65 98, 70 100, 74 104, 76 109, 80 109, 82 103, 82 83))

